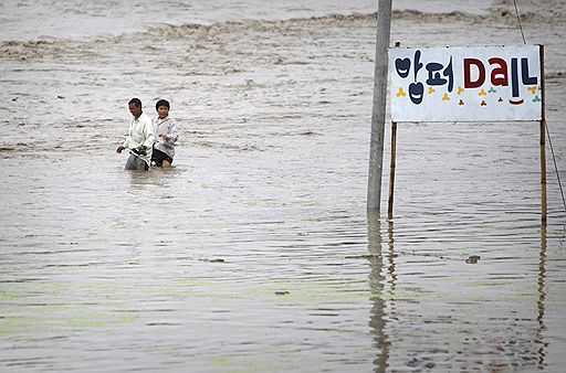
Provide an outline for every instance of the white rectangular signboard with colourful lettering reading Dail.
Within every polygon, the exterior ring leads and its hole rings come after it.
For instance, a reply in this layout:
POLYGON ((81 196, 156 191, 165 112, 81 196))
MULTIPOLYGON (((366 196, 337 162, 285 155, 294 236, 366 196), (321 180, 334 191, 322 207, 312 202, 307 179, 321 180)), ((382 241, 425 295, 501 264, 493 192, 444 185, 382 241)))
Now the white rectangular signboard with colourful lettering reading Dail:
POLYGON ((390 49, 392 121, 542 118, 541 46, 390 49))

